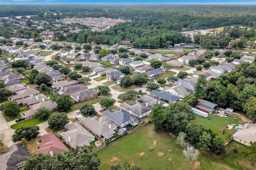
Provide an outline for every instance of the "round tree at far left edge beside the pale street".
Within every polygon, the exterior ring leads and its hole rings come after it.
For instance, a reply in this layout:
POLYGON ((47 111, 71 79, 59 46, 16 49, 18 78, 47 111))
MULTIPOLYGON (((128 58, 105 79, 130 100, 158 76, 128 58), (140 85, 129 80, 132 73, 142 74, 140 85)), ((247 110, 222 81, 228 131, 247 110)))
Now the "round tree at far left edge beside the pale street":
POLYGON ((0 106, 0 111, 3 111, 5 116, 15 117, 20 113, 20 107, 16 101, 8 101, 0 106))

